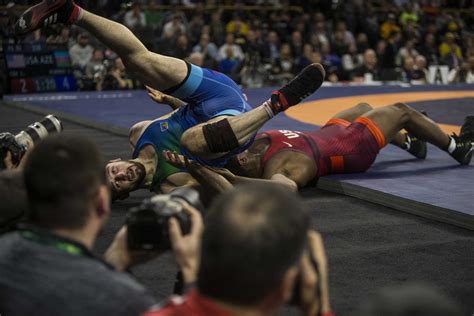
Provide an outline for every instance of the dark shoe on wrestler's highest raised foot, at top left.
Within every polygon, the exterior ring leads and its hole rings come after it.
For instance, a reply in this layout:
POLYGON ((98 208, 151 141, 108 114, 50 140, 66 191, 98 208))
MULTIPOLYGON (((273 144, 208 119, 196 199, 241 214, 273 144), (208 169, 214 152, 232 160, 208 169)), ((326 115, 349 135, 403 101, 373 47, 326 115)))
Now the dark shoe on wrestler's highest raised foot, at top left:
POLYGON ((43 0, 20 16, 14 26, 15 34, 25 35, 51 24, 72 24, 80 12, 73 0, 43 0))

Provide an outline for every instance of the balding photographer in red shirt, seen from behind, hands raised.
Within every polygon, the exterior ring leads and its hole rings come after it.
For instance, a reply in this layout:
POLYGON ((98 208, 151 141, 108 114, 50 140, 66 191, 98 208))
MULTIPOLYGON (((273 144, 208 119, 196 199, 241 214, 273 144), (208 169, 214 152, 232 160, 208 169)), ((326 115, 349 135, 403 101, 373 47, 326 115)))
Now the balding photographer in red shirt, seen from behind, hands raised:
MULTIPOLYGON (((144 315, 272 315, 291 298, 304 315, 332 315, 324 246, 309 219, 296 195, 274 185, 224 193, 205 218, 196 289, 144 315)), ((194 275, 196 261, 185 262, 197 237, 182 237, 174 220, 170 228, 178 263, 194 275)))

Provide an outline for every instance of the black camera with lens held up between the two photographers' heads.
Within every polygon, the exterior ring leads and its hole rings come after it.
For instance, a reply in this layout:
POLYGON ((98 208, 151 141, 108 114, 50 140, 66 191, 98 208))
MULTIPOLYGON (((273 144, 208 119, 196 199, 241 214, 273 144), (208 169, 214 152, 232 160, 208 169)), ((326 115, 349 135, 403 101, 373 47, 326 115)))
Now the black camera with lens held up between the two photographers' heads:
POLYGON ((191 188, 178 188, 171 194, 156 195, 131 208, 126 217, 128 248, 149 251, 170 249, 170 218, 178 220, 184 235, 191 230, 191 219, 184 212, 185 203, 202 210, 199 192, 191 188))

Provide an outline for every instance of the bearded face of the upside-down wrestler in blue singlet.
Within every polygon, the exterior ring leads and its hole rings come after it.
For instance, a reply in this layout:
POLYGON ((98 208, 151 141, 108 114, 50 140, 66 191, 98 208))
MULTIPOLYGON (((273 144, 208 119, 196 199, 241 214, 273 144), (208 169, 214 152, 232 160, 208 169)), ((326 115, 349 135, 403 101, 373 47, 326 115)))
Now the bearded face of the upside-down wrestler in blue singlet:
POLYGON ((142 164, 131 160, 111 160, 105 171, 110 183, 113 199, 123 199, 137 189, 145 177, 142 164))

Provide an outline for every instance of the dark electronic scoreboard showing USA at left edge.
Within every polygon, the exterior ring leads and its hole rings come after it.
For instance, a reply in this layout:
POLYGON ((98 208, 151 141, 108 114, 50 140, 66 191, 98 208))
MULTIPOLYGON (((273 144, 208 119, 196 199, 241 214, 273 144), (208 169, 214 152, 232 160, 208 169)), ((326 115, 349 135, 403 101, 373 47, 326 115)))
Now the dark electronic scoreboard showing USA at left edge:
POLYGON ((75 91, 76 79, 66 45, 5 44, 9 93, 75 91))

